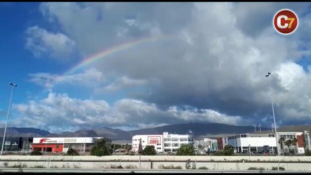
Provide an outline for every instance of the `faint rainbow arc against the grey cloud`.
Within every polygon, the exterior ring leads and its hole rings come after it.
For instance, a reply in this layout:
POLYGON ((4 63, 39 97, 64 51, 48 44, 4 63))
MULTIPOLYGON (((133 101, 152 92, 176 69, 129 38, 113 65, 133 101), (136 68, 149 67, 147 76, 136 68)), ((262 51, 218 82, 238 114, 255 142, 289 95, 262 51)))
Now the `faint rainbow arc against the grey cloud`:
POLYGON ((72 74, 74 72, 76 72, 77 70, 81 69, 82 67, 85 67, 101 58, 104 58, 107 55, 111 55, 113 53, 119 52, 121 50, 125 50, 146 42, 151 42, 151 41, 157 41, 159 39, 165 39, 165 38, 171 38, 169 36, 166 35, 161 35, 161 36, 157 36, 157 37, 148 37, 148 38, 143 38, 143 39, 139 39, 139 40, 134 40, 134 41, 130 41, 127 43, 123 43, 108 49, 105 49, 103 51, 100 51, 99 53, 96 53, 88 58, 83 59, 81 62, 79 62, 78 64, 76 64, 75 66, 73 66, 72 68, 70 68, 68 71, 66 71, 64 73, 64 75, 69 75, 72 74))

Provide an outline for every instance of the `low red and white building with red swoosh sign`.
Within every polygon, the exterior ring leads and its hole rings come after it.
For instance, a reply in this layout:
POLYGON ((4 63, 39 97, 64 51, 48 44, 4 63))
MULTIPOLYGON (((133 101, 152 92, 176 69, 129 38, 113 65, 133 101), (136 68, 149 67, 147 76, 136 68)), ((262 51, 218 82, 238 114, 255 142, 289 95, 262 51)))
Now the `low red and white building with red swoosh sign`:
MULTIPOLYGON (((69 148, 77 152, 90 152, 100 137, 70 137, 70 138, 33 138, 32 151, 67 152, 69 148)), ((103 138, 105 139, 105 138, 103 138)), ((111 148, 111 140, 105 139, 111 148)))

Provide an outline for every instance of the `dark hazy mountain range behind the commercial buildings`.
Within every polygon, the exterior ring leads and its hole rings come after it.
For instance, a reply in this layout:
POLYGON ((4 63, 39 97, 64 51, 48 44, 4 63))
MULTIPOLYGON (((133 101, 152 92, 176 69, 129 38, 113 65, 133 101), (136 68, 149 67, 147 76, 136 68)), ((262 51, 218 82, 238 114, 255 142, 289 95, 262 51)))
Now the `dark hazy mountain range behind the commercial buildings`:
MULTIPOLYGON (((256 133, 271 133, 269 128, 261 128, 262 131, 256 133)), ((6 136, 11 137, 105 137, 112 139, 115 143, 131 143, 134 135, 162 134, 168 132, 172 134, 186 134, 188 130, 194 132, 195 139, 203 137, 225 137, 234 134, 254 133, 253 126, 234 126, 217 123, 185 123, 173 124, 155 128, 147 128, 133 131, 123 131, 108 127, 95 128, 93 130, 78 130, 76 132, 50 133, 46 130, 35 128, 7 128, 6 136)), ((257 129, 258 130, 258 129, 257 129)), ((300 132, 310 131, 311 125, 284 126, 277 129, 278 132, 300 132)), ((3 135, 4 128, 0 128, 0 136, 3 135)))

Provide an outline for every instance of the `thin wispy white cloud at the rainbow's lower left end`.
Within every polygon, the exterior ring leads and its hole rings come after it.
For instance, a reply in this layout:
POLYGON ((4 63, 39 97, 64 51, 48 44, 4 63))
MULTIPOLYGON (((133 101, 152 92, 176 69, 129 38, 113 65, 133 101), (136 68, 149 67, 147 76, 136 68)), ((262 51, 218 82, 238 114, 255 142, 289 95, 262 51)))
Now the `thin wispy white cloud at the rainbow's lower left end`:
POLYGON ((95 68, 71 75, 34 73, 29 74, 29 76, 31 77, 29 79, 30 82, 43 86, 47 90, 52 90, 52 88, 57 84, 94 86, 95 83, 102 82, 105 79, 103 73, 97 71, 95 68))

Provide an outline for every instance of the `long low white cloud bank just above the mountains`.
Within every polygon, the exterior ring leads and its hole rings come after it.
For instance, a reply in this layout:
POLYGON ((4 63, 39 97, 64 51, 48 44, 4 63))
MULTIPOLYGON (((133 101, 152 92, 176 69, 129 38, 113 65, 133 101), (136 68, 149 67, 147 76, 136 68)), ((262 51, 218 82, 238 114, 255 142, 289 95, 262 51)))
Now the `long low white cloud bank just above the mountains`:
POLYGON ((41 128, 51 132, 93 129, 103 125, 140 129, 189 121, 225 124, 241 121, 238 116, 227 116, 213 110, 182 110, 175 106, 163 110, 155 104, 133 99, 121 99, 110 106, 104 100, 82 100, 53 92, 39 101, 13 104, 13 110, 17 113, 10 126, 41 128))

